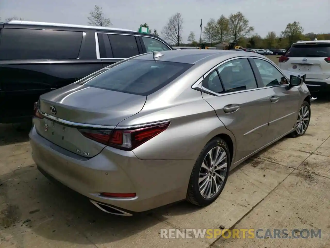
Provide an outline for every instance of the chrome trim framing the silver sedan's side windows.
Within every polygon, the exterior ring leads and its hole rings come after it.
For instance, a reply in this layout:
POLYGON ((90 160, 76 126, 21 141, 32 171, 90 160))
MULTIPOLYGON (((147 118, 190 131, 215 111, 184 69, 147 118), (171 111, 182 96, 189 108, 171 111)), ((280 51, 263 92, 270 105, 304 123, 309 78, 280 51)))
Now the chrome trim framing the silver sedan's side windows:
MULTIPOLYGON (((248 90, 240 90, 240 91, 234 91, 234 92, 228 92, 228 93, 216 93, 216 92, 213 92, 209 89, 204 89, 202 90, 202 82, 204 80, 205 77, 207 77, 213 70, 215 70, 216 68, 218 68, 219 66, 221 66, 222 64, 224 63, 227 63, 227 62, 230 62, 230 61, 233 61, 233 60, 237 60, 237 59, 260 59, 260 60, 264 60, 266 62, 269 62, 267 59, 264 59, 264 58, 260 58, 260 57, 253 57, 253 56, 242 56, 242 57, 235 57, 235 58, 230 58, 228 60, 225 60, 225 61, 222 61, 220 62, 219 64, 217 64, 216 66, 214 66, 211 70, 209 70, 208 72, 206 72, 201 78, 199 78, 192 86, 191 88, 192 89, 195 89, 195 90, 199 90, 199 91, 204 91, 204 92, 207 92, 211 95, 214 95, 214 96, 226 96, 226 95, 231 95, 231 94, 236 94, 236 93, 242 93, 242 92, 248 92, 248 91, 254 91, 254 90, 261 90, 261 89, 268 89, 268 88, 275 88, 275 87, 286 87, 288 86, 289 84, 281 84, 281 85, 274 85, 274 86, 267 86, 267 87, 257 87, 255 89, 248 89, 248 90)), ((270 63, 270 62, 269 62, 270 63)), ((272 65, 275 65, 275 68, 277 70, 278 69, 278 66, 274 63, 274 62, 271 62, 270 64, 272 65)), ((252 68, 251 68, 252 69, 252 68)), ((253 69, 252 69, 253 71, 253 69)), ((286 78, 288 79, 281 71, 280 73, 286 78)), ((289 80, 288 80, 289 81, 289 80)))

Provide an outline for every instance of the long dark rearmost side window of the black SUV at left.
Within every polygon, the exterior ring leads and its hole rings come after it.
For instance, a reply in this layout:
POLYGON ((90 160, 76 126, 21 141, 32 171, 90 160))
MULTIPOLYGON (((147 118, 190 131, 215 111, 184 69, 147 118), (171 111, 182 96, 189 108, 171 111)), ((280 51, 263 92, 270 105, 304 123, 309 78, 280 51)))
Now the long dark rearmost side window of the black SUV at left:
POLYGON ((5 28, 1 36, 0 59, 76 59, 81 42, 82 32, 5 28))

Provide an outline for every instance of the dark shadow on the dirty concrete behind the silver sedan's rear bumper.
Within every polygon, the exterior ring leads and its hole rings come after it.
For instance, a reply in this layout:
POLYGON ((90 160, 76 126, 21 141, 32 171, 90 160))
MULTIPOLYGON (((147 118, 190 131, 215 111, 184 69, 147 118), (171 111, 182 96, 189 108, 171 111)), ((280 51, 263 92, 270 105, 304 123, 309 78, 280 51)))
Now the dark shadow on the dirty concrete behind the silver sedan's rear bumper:
POLYGON ((169 216, 200 209, 177 202, 132 217, 107 214, 84 196, 50 182, 35 164, 0 175, 0 194, 3 196, 0 197, 0 229, 4 228, 17 240, 22 232, 32 232, 48 240, 76 244, 88 244, 88 237, 96 244, 112 243, 157 225, 158 233, 164 228, 164 224, 159 224, 169 216), (6 207, 1 209, 1 206, 6 207), (87 239, 74 238, 77 232, 87 239))

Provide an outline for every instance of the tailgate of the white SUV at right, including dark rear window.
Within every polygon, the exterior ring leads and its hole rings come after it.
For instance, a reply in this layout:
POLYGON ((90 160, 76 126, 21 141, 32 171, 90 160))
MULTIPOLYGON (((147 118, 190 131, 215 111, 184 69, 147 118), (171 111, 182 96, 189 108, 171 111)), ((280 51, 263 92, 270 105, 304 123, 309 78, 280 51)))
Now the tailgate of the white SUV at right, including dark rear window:
POLYGON ((291 46, 284 55, 287 62, 280 68, 306 74, 307 79, 327 79, 330 77, 330 43, 299 43, 291 46))

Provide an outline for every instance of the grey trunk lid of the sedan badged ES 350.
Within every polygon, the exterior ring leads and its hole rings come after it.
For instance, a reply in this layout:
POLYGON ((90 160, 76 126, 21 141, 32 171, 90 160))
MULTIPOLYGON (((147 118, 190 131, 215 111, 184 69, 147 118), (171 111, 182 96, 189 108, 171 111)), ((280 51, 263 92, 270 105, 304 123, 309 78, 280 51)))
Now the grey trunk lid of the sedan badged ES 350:
POLYGON ((84 137, 79 126, 70 124, 115 127, 120 121, 141 111, 146 96, 71 84, 42 95, 39 101, 41 112, 49 114, 50 118, 34 119, 37 132, 66 150, 93 157, 106 145, 84 137))

